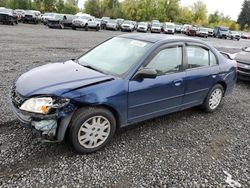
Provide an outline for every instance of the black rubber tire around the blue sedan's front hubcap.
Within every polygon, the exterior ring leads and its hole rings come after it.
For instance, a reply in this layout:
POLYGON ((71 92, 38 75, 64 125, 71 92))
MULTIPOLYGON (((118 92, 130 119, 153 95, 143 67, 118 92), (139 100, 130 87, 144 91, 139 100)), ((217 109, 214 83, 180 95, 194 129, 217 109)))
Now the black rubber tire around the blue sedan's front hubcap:
POLYGON ((68 141, 75 152, 79 154, 86 154, 86 153, 93 153, 105 147, 110 142, 111 138, 113 137, 115 130, 116 130, 116 119, 109 110, 102 108, 102 107, 85 107, 85 108, 78 109, 73 115, 72 120, 69 125, 67 136, 69 139, 68 141), (110 131, 105 141, 101 143, 99 146, 95 148, 87 148, 81 145, 78 139, 78 134, 84 122, 88 121, 91 117, 95 117, 95 116, 105 117, 110 123, 110 131))

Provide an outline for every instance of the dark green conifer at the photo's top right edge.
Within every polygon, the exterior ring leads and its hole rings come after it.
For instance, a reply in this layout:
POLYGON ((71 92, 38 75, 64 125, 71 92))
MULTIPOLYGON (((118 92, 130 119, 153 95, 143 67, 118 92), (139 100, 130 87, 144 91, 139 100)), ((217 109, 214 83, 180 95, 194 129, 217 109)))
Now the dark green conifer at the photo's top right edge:
MULTIPOLYGON (((250 26, 250 1, 245 0, 242 4, 241 12, 238 18, 240 29, 245 29, 245 26, 250 26)), ((249 29, 249 28, 248 28, 249 29)))

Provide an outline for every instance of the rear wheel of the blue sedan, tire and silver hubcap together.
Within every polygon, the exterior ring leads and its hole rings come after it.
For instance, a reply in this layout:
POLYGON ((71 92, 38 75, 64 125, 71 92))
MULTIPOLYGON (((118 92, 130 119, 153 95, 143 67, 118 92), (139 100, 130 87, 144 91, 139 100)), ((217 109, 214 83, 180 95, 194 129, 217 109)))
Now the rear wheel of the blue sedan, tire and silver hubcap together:
POLYGON ((214 112, 220 106, 224 96, 224 88, 220 84, 216 84, 208 93, 207 98, 203 104, 206 112, 214 112))

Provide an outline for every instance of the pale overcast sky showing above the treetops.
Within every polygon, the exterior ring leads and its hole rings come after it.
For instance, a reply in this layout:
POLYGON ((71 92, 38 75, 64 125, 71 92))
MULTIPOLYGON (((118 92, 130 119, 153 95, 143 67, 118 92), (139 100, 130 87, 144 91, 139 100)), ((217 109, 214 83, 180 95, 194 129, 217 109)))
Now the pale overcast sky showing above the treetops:
MULTIPOLYGON (((79 0, 79 7, 83 7, 85 0, 79 0)), ((181 0, 182 6, 191 6, 197 0, 181 0)), ((241 11, 241 5, 244 0, 202 0, 207 5, 208 13, 214 13, 216 10, 233 20, 237 20, 241 11)))

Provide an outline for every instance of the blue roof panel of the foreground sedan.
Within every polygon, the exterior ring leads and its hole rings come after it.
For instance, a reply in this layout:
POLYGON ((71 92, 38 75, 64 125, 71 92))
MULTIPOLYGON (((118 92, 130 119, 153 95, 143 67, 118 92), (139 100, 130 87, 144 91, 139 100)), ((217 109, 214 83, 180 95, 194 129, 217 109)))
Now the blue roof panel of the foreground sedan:
POLYGON ((202 40, 199 39, 192 39, 190 37, 182 37, 182 36, 174 36, 174 35, 166 35, 166 34, 151 34, 151 33, 145 33, 145 34, 124 34, 120 35, 119 37, 124 37, 124 38, 130 38, 130 39, 135 39, 135 40, 143 40, 146 42, 152 42, 156 43, 159 41, 193 41, 193 42, 202 42, 202 40))

